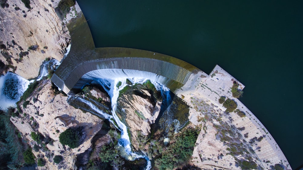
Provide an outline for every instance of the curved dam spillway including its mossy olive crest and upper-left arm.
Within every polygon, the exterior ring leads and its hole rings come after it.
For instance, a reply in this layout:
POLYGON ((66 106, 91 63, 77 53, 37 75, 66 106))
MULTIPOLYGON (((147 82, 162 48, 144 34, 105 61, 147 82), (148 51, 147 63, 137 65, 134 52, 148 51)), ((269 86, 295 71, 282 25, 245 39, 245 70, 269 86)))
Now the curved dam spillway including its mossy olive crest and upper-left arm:
POLYGON ((103 78, 148 78, 175 91, 186 83, 192 73, 201 71, 185 61, 152 51, 122 47, 95 48, 83 15, 70 22, 68 29, 72 39, 70 52, 51 79, 66 94, 81 90, 88 83, 87 78, 93 78, 94 74, 95 77, 103 75, 103 78))

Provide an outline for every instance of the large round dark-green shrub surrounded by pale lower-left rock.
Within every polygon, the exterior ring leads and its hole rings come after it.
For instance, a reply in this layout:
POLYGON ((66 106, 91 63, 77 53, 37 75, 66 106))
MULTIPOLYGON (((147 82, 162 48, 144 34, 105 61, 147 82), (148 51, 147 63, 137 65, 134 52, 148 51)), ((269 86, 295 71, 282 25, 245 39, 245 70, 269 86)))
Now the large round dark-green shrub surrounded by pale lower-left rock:
POLYGON ((68 145, 70 148, 77 148, 81 144, 83 127, 68 128, 59 135, 59 141, 62 145, 68 145))

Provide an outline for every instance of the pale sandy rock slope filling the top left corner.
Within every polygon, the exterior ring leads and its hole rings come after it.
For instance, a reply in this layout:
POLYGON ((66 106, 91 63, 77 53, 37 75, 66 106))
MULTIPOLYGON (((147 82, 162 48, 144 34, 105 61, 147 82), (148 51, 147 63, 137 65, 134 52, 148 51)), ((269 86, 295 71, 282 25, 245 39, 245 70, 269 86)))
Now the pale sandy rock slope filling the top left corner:
POLYGON ((4 1, 0 10, 0 73, 15 71, 25 79, 37 77, 45 58, 61 60, 70 43, 66 26, 51 1, 4 1))

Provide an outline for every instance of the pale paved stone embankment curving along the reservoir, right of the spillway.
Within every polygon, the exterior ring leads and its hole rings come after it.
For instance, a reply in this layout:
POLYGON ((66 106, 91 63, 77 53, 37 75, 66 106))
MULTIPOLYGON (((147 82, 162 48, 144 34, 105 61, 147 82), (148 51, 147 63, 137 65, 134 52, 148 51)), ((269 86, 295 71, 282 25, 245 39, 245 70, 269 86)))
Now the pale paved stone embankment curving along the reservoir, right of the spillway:
MULTIPOLYGON (((241 118, 236 113, 230 113, 233 123, 237 128, 245 127, 245 130, 241 131, 241 134, 244 136, 248 133, 247 141, 250 141, 250 139, 254 137, 259 138, 260 136, 264 136, 261 142, 255 142, 257 145, 252 145, 252 148, 258 155, 265 169, 270 169, 270 165, 275 164, 283 164, 287 166, 288 169, 291 169, 285 155, 265 126, 243 103, 241 103, 240 100, 232 97, 231 87, 233 86, 234 81, 238 82, 238 80, 217 65, 210 75, 207 75, 202 71, 195 75, 192 74, 187 83, 185 83, 180 90, 176 91, 176 94, 181 96, 181 93, 198 92, 202 94, 201 98, 207 98, 211 103, 214 103, 222 110, 225 110, 225 108, 218 102, 220 96, 226 96, 235 100, 238 104, 237 109, 245 112, 246 114, 244 118, 241 118), (270 161, 270 163, 265 163, 266 161, 270 161)), ((238 88, 243 90, 245 86, 240 82, 238 82, 238 84, 238 88)), ((197 117, 198 116, 190 115, 191 121, 194 124, 198 123, 197 117)))

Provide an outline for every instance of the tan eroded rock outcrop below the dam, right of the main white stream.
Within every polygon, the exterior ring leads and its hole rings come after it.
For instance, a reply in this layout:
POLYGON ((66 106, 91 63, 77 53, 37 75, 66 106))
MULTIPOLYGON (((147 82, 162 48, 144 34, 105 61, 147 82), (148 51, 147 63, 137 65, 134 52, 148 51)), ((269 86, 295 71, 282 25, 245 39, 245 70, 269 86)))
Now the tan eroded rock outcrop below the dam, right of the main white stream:
MULTIPOLYGON (((141 86, 141 85, 140 85, 141 86)), ((138 149, 137 132, 150 134, 151 124, 157 119, 162 100, 156 98, 154 91, 148 89, 130 90, 118 99, 118 116, 124 120, 131 132, 132 145, 138 149)))

